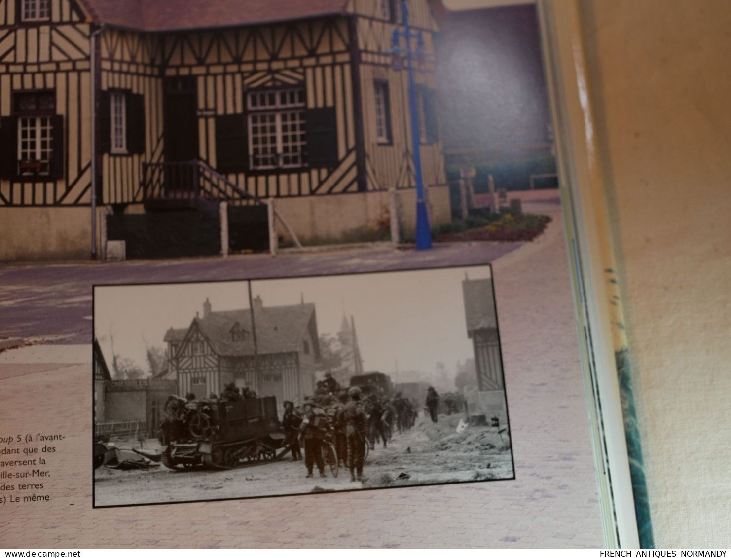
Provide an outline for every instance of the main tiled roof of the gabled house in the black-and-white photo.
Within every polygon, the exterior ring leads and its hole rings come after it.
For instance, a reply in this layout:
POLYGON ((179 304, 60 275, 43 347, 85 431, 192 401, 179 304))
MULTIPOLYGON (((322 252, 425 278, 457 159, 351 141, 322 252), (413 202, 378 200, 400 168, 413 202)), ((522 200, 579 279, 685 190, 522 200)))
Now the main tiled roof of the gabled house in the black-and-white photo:
MULTIPOLYGON (((298 352, 302 350, 302 339, 307 334, 310 320, 314 319, 315 305, 311 303, 292 306, 262 306, 256 308, 254 317, 257 327, 257 350, 260 354, 276 352, 298 352)), ((196 317, 197 323, 220 355, 241 356, 254 354, 254 336, 251 335, 251 311, 229 310, 211 312, 208 317, 196 317), (249 332, 244 341, 231 340, 231 328, 238 323, 249 332)), ((317 333, 314 333, 317 342, 317 333)), ((312 347, 318 354, 318 347, 312 347)))

